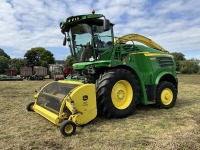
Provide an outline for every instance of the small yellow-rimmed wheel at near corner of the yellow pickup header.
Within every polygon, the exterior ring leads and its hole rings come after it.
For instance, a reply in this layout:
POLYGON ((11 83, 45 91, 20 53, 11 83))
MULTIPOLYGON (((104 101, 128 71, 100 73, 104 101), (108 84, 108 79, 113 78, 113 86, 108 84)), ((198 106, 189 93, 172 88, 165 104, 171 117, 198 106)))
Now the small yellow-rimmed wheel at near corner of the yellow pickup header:
POLYGON ((60 132, 64 136, 71 136, 76 131, 76 124, 71 120, 65 120, 60 125, 60 132))

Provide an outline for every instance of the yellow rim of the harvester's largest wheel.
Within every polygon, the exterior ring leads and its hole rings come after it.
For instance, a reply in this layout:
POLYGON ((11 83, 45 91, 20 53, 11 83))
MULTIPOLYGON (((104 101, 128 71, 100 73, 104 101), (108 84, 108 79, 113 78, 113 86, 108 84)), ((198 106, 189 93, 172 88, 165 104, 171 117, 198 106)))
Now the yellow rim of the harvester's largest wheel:
POLYGON ((126 109, 133 99, 133 89, 129 82, 120 80, 112 88, 111 98, 118 109, 126 109))

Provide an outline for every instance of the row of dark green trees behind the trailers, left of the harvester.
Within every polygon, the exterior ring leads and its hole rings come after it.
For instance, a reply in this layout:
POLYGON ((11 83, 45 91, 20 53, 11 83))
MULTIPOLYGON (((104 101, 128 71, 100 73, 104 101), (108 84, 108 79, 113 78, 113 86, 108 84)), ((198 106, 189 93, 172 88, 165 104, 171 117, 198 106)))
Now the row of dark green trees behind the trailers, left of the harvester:
MULTIPOLYGON (((21 67, 43 66, 48 68, 49 64, 55 64, 54 55, 43 47, 31 48, 24 54, 24 58, 12 59, 0 48, 0 74, 4 74, 6 69, 15 69, 19 74, 21 67)), ((65 60, 65 66, 72 66, 71 56, 65 60)))

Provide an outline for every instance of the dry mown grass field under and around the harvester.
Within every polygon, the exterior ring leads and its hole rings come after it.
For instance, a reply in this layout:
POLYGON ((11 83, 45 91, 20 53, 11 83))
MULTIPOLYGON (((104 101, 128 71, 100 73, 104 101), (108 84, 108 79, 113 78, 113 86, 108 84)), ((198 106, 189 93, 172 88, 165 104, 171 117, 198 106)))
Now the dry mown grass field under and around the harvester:
POLYGON ((138 106, 124 119, 96 118, 65 138, 59 128, 27 112, 34 90, 48 81, 0 82, 1 150, 200 149, 200 75, 179 75, 174 108, 138 106))

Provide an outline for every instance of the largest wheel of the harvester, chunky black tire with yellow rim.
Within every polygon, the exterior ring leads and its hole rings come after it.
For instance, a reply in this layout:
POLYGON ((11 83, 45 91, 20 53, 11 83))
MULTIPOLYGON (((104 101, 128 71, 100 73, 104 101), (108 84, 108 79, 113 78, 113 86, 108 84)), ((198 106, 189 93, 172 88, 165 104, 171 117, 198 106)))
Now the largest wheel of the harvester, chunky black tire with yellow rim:
POLYGON ((131 115, 138 103, 140 88, 135 76, 125 69, 111 69, 96 82, 98 114, 107 118, 131 115))

